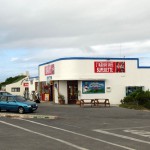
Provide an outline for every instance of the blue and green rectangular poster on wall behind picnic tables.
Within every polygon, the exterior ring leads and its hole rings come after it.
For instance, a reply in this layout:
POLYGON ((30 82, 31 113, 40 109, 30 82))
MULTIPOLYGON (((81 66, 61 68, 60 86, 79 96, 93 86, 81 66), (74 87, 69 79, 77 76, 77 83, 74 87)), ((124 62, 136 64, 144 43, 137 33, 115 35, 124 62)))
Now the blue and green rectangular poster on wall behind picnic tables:
POLYGON ((104 81, 82 81, 82 94, 105 93, 104 81))

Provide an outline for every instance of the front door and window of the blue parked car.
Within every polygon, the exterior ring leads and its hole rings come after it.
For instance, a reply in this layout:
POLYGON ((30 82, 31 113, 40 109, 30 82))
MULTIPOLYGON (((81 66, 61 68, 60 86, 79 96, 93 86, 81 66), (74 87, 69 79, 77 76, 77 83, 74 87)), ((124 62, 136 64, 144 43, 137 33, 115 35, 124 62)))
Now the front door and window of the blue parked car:
POLYGON ((6 110, 17 111, 18 105, 13 96, 8 96, 6 110))

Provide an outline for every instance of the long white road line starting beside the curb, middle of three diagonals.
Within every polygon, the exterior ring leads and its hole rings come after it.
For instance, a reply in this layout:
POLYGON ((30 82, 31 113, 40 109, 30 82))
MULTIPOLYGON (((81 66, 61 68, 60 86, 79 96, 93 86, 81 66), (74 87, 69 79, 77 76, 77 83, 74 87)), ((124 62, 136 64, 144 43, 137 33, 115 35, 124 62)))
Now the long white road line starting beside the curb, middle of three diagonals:
POLYGON ((34 124, 38 124, 38 125, 41 125, 41 126, 53 128, 53 129, 56 129, 56 130, 61 130, 61 131, 64 131, 64 132, 68 132, 68 133, 71 133, 71 134, 74 134, 74 135, 82 136, 82 137, 85 137, 85 138, 88 138, 88 139, 92 139, 92 140, 95 140, 95 141, 103 142, 103 143, 106 143, 106 144, 109 144, 109 145, 113 145, 113 146, 116 146, 116 147, 120 147, 120 148, 123 148, 123 149, 135 150, 135 149, 130 148, 130 147, 126 147, 126 146, 123 146, 123 145, 115 144, 115 143, 112 143, 112 142, 108 142, 108 141, 105 141, 105 140, 101 140, 101 139, 98 139, 98 138, 94 138, 94 137, 91 137, 91 136, 88 136, 88 135, 84 135, 84 134, 81 134, 81 133, 77 133, 77 132, 73 132, 73 131, 70 131, 70 130, 66 130, 66 129, 62 129, 62 128, 58 128, 58 127, 54 127, 54 126, 49 126, 49 125, 46 125, 46 124, 42 124, 42 123, 39 123, 39 122, 27 120, 27 119, 20 119, 20 120, 28 121, 30 123, 34 123, 34 124))

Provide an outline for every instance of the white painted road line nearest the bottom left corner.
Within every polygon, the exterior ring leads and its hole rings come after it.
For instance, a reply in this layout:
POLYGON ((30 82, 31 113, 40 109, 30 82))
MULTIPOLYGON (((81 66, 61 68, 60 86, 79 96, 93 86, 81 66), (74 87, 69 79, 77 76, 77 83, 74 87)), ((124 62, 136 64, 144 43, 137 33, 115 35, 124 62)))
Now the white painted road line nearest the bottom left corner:
POLYGON ((18 128, 18 129, 21 129, 21 130, 24 130, 24 131, 33 133, 33 134, 37 134, 37 135, 40 135, 40 136, 43 136, 43 137, 46 137, 46 138, 49 138, 49 139, 52 139, 52 140, 56 140, 56 141, 58 141, 58 142, 61 142, 61 143, 63 143, 63 144, 66 144, 66 145, 68 145, 68 146, 74 147, 74 148, 79 149, 79 150, 88 150, 88 149, 86 149, 86 148, 80 147, 80 146, 75 145, 75 144, 72 144, 72 143, 70 143, 70 142, 67 142, 67 141, 64 141, 64 140, 61 140, 61 139, 58 139, 58 138, 54 138, 54 137, 52 137, 52 136, 45 135, 45 134, 42 134, 42 133, 39 133, 39 132, 35 132, 35 131, 32 131, 32 130, 29 130, 29 129, 26 129, 26 128, 23 128, 23 127, 14 125, 14 124, 11 124, 11 123, 7 123, 7 122, 5 122, 5 121, 0 121, 0 123, 9 125, 9 126, 12 126, 12 127, 15 127, 15 128, 18 128))

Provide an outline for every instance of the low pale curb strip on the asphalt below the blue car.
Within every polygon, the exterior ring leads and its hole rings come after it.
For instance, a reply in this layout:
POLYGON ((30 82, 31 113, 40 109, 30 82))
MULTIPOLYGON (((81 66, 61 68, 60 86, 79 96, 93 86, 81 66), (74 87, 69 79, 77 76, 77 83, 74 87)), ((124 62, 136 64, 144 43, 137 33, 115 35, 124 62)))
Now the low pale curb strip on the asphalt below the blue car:
POLYGON ((29 114, 7 114, 3 113, 0 114, 0 117, 7 117, 7 118, 36 118, 36 119, 57 119, 58 116, 50 116, 50 115, 29 115, 29 114))

